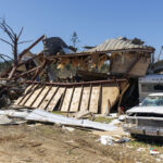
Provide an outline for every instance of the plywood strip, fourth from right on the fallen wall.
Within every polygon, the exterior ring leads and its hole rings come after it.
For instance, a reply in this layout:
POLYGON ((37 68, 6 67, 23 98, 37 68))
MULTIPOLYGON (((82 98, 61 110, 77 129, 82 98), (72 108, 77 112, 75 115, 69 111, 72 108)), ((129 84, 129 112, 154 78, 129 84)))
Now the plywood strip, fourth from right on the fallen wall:
POLYGON ((82 93, 82 87, 76 87, 74 90, 70 112, 77 112, 78 111, 78 103, 79 103, 79 99, 80 99, 80 93, 82 93))

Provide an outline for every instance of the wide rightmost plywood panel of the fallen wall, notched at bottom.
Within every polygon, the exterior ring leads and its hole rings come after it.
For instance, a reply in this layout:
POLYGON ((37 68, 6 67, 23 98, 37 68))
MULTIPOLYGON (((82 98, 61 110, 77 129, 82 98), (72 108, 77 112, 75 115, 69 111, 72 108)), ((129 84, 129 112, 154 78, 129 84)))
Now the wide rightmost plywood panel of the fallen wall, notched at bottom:
POLYGON ((101 113, 108 113, 108 100, 110 100, 111 106, 116 102, 117 97, 120 96, 120 89, 116 86, 103 86, 102 87, 102 103, 101 103, 101 113))

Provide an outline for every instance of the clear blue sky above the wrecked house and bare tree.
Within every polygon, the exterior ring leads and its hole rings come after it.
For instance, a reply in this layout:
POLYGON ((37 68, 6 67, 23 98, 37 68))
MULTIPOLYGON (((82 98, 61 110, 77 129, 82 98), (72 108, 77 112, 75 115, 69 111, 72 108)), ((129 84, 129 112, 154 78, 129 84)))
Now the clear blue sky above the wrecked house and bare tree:
MULTIPOLYGON (((84 47, 137 37, 155 48, 155 58, 163 46, 163 0, 0 0, 0 17, 16 33, 24 27, 22 40, 47 35, 72 45, 76 32, 78 47, 84 47)), ((8 39, 1 30, 0 37, 8 39)), ((18 52, 30 43, 21 45, 18 52)), ((40 42, 32 51, 42 49, 40 42)), ((0 53, 12 55, 10 46, 0 41, 0 53)))

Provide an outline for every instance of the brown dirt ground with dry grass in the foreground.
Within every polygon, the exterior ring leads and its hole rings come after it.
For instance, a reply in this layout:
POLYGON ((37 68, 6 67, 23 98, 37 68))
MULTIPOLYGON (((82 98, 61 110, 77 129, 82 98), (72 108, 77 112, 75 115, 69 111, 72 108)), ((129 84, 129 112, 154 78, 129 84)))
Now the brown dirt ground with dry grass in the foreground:
POLYGON ((0 163, 133 163, 155 162, 149 147, 103 146, 90 131, 53 125, 0 126, 0 163))

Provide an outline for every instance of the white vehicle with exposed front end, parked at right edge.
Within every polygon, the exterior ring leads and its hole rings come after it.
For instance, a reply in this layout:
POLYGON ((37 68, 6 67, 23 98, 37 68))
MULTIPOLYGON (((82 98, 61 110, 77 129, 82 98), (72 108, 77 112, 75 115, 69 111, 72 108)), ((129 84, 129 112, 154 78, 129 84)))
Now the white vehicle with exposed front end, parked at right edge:
POLYGON ((126 112, 124 129, 131 136, 163 137, 163 92, 149 95, 126 112))

